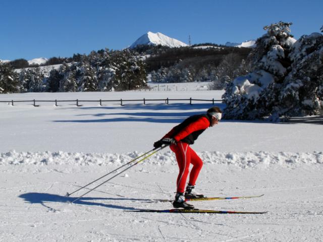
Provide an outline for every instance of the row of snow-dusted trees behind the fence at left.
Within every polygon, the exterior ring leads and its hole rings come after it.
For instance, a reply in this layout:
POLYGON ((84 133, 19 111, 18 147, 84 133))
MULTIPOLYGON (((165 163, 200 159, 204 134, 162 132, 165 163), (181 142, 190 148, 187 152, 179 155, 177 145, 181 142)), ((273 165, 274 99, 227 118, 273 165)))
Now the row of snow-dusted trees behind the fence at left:
POLYGON ((145 63, 130 50, 92 51, 58 70, 27 68, 17 73, 0 63, 0 93, 121 91, 147 86, 145 63))

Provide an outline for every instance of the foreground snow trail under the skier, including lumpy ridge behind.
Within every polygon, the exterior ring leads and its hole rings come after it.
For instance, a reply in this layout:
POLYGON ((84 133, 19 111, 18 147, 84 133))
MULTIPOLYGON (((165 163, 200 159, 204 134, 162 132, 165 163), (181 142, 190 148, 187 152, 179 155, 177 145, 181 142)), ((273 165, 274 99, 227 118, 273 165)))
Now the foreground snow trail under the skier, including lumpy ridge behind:
POLYGON ((75 204, 69 202, 87 189, 65 197, 140 154, 2 153, 1 241, 320 241, 323 235, 321 153, 200 154, 205 164, 197 188, 205 195, 264 196, 191 202, 196 208, 266 214, 125 212, 172 208, 151 202, 174 197, 178 168, 169 151, 75 204), (235 157, 230 164, 221 161, 229 155, 235 157), (242 162, 244 157, 250 162, 242 162), (275 157, 280 161, 269 162, 275 157))

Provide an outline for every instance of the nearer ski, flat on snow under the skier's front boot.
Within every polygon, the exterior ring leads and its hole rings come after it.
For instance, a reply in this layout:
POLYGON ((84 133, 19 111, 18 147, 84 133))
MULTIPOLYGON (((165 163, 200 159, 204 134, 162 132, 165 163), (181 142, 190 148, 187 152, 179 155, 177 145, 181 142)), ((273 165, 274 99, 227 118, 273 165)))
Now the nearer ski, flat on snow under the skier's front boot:
POLYGON ((225 210, 203 210, 203 209, 136 209, 136 210, 124 210, 125 212, 146 212, 146 213, 229 213, 229 214, 264 214, 266 212, 245 212, 245 211, 225 211, 225 210))

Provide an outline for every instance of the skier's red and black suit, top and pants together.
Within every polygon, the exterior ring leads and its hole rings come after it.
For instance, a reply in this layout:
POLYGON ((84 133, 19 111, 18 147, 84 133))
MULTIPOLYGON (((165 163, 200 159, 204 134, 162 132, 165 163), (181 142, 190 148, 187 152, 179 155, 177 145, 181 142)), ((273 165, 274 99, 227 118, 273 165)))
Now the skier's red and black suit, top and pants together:
POLYGON ((174 127, 163 137, 173 138, 177 142, 177 144, 172 144, 170 148, 175 153, 179 166, 179 174, 177 177, 178 193, 184 193, 190 164, 192 164, 193 167, 188 183, 189 185, 195 186, 195 182, 202 168, 203 162, 189 145, 193 144, 194 140, 196 140, 197 137, 209 126, 210 119, 206 115, 195 115, 184 120, 182 124, 174 127))

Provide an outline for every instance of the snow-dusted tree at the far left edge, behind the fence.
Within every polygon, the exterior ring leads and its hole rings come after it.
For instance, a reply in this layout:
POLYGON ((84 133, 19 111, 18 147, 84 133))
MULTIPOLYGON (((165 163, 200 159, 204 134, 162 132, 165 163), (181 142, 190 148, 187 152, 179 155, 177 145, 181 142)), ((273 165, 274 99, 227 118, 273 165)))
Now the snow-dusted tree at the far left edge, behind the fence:
POLYGON ((0 61, 0 93, 17 93, 22 86, 18 74, 9 63, 0 61))

